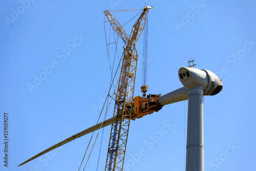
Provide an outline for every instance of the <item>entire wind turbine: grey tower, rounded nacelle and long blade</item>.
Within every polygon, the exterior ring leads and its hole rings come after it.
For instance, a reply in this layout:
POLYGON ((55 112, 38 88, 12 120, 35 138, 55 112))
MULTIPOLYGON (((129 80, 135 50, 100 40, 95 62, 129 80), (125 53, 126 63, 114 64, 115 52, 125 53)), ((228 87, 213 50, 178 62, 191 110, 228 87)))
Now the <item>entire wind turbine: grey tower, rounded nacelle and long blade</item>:
MULTIPOLYGON (((176 89, 165 95, 156 98, 156 103, 160 106, 183 101, 188 99, 188 119, 187 119, 187 145, 186 145, 186 171, 204 170, 204 129, 203 129, 203 96, 213 96, 222 90, 222 80, 209 70, 182 67, 178 72, 179 79, 184 87, 176 89)), ((145 103, 140 106, 140 110, 145 110, 145 103)), ((134 109, 133 109, 134 113, 134 109)), ((153 113, 153 112, 152 112, 153 113)), ((148 113, 147 113, 148 114, 148 113)), ((89 134, 100 127, 108 126, 115 121, 110 118, 98 123, 66 140, 63 140, 45 151, 35 155, 20 165, 23 165, 52 149, 66 144, 76 138, 89 134)), ((19 166, 20 166, 19 165, 19 166)))

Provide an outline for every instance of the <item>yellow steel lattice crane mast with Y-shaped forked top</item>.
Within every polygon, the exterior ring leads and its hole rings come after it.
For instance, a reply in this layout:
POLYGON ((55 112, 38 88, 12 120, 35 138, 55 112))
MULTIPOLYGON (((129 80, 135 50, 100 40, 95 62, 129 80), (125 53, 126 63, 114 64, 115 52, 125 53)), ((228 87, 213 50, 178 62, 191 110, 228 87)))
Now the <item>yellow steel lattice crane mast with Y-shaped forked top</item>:
POLYGON ((143 32, 148 9, 144 7, 143 12, 133 26, 130 37, 127 36, 118 20, 109 11, 104 11, 111 26, 119 37, 124 41, 123 61, 121 74, 118 82, 118 89, 115 99, 115 109, 109 141, 108 155, 105 170, 123 170, 123 163, 126 150, 126 142, 129 133, 129 125, 133 109, 133 96, 136 78, 138 53, 136 43, 143 32))

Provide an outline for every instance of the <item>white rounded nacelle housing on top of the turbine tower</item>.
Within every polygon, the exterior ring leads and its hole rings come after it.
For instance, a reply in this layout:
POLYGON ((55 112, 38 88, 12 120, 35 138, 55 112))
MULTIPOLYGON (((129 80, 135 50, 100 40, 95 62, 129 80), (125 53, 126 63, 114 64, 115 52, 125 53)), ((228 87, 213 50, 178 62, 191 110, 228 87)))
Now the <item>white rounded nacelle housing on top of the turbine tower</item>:
POLYGON ((209 70, 182 67, 179 69, 181 83, 187 89, 203 87, 204 95, 216 95, 222 90, 222 80, 209 70))

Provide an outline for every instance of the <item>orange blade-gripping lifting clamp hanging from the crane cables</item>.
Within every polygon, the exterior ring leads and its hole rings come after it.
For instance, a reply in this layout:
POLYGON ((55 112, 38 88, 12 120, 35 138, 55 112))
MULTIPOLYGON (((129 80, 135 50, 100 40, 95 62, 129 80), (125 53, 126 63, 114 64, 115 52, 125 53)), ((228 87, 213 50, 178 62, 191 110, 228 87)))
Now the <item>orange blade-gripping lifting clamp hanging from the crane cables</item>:
POLYGON ((153 112, 158 112, 162 109, 162 106, 158 104, 158 97, 161 94, 152 95, 149 94, 147 97, 134 97, 134 109, 132 112, 131 119, 141 118, 145 115, 152 114, 153 112))

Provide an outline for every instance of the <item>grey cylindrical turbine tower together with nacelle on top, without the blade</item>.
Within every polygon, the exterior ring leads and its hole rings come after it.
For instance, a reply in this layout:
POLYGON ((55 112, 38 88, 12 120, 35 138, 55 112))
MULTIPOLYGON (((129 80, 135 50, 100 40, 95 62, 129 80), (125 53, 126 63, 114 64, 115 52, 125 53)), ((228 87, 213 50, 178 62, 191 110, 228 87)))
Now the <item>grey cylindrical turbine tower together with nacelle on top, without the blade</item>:
POLYGON ((216 95, 222 80, 208 70, 183 67, 179 78, 188 89, 186 171, 204 171, 203 95, 216 95))

